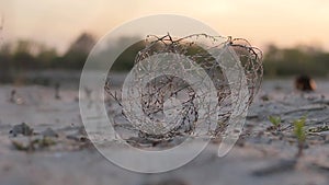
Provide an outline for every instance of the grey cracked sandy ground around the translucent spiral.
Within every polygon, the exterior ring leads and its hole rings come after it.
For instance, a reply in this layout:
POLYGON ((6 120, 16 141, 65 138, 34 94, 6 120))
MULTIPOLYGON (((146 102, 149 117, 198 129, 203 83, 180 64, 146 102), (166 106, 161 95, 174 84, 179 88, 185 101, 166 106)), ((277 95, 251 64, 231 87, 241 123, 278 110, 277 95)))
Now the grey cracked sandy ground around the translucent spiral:
MULTIPOLYGON (((2 85, 0 184, 328 185, 329 131, 309 132, 304 155, 297 159, 292 128, 292 122, 305 114, 306 129, 329 125, 329 83, 318 81, 318 86, 316 93, 300 94, 294 92, 291 81, 264 81, 249 109, 239 141, 226 157, 217 158, 218 143, 213 141, 186 165, 151 175, 116 166, 83 139, 77 90, 61 90, 61 99, 55 100, 53 88, 2 85), (13 89, 16 90, 14 103, 9 101, 13 89), (268 129, 272 125, 270 115, 281 116, 282 131, 268 129), (52 139, 55 144, 27 152, 18 150, 13 141, 25 144, 31 139, 10 134, 14 125, 22 123, 38 134, 52 128, 58 135, 52 139)), ((125 150, 116 147, 113 152, 124 154, 125 150)))

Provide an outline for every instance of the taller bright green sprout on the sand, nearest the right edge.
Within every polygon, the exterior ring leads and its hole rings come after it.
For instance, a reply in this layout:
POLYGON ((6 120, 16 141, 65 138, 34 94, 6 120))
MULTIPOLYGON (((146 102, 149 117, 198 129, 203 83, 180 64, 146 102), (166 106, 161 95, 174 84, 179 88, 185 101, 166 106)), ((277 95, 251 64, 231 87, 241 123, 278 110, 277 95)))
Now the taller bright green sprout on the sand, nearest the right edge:
POLYGON ((305 123, 306 123, 306 116, 303 116, 299 119, 296 119, 294 123, 294 135, 297 138, 298 142, 298 152, 297 157, 303 155, 303 149, 306 141, 306 130, 305 130, 305 123))

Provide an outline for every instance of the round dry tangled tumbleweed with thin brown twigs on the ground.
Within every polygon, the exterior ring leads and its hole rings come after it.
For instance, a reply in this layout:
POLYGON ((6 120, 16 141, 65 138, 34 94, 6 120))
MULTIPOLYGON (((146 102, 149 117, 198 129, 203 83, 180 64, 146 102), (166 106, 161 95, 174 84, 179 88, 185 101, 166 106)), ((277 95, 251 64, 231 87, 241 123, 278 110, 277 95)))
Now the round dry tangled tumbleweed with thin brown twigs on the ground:
MULTIPOLYGON (((243 38, 231 38, 222 36, 209 36, 206 34, 193 34, 185 37, 174 38, 169 33, 164 36, 148 35, 146 38, 146 47, 140 50, 135 58, 135 66, 145 59, 155 56, 157 54, 179 54, 180 56, 188 57, 191 62, 197 63, 204 69, 206 74, 213 81, 216 90, 216 112, 208 112, 207 114, 215 114, 217 117, 215 130, 209 130, 207 134, 217 136, 223 132, 227 126, 227 120, 232 113, 232 104, 237 101, 238 92, 231 90, 230 81, 227 78, 226 70, 223 69, 220 58, 214 56, 214 53, 220 53, 224 49, 232 50, 243 69, 246 82, 249 91, 248 105, 252 102, 252 99, 257 94, 261 79, 263 74, 262 69, 262 53, 256 47, 252 47, 243 38)), ((151 60, 150 60, 151 61, 151 60)), ((179 60, 178 60, 179 61, 179 60)), ((158 62, 151 63, 154 66, 160 65, 158 62)), ((231 63, 236 65, 236 63, 231 63)), ((163 70, 193 70, 191 65, 183 62, 177 62, 170 66, 161 66, 163 70)), ((137 79, 139 77, 136 77, 137 79)), ((141 77, 140 77, 141 78, 141 77)), ((203 83, 203 81, 196 81, 195 83, 203 83)), ((197 127, 200 118, 200 102, 197 102, 198 94, 192 88, 193 84, 188 83, 179 77, 174 76, 159 76, 154 79, 149 79, 146 86, 143 86, 140 92, 140 107, 143 114, 150 120, 159 123, 166 116, 173 116, 170 119, 170 124, 164 127, 168 129, 167 132, 161 135, 154 135, 144 131, 143 127, 134 125, 136 130, 139 132, 139 137, 151 137, 151 138, 168 138, 177 135, 184 134, 196 134, 195 128, 197 127), (179 100, 179 105, 173 103, 170 107, 166 105, 168 100, 179 100), (174 105, 174 106, 172 106, 174 105), (177 114, 171 115, 170 111, 175 109, 177 114), (167 114, 166 114, 167 113, 167 114)), ((111 91, 111 84, 106 83, 106 92, 117 102, 122 107, 121 93, 114 93, 111 91)), ((243 86, 240 86, 243 88, 243 86)), ((238 90, 239 91, 239 90, 238 90)), ((128 100, 129 101, 129 100, 128 100)), ((243 108, 248 108, 243 107, 243 108)), ((121 116, 127 118, 128 111, 122 109, 121 116)), ((121 119, 122 120, 122 119, 121 119)), ((144 122, 144 119, 140 119, 144 122)), ((116 123, 120 125, 120 123, 116 123)), ((157 125, 148 125, 148 127, 157 127, 157 125)))

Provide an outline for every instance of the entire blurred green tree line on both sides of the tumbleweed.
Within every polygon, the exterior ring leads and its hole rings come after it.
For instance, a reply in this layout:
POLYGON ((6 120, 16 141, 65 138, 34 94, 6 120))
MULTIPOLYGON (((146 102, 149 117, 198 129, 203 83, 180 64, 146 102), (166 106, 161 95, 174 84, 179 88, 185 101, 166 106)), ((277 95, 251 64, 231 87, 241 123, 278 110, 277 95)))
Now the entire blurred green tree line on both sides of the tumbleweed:
MULTIPOLYGON (((129 37, 118 38, 127 42, 129 37)), ((95 38, 82 33, 71 43, 68 50, 59 55, 55 48, 33 41, 3 44, 0 48, 0 81, 10 82, 13 76, 26 70, 81 70, 95 38)), ((112 70, 126 71, 133 67, 137 53, 145 47, 138 42, 118 56, 112 70)), ((270 78, 306 73, 325 77, 329 73, 329 53, 317 47, 298 46, 279 48, 270 45, 264 53, 264 76, 270 78)))

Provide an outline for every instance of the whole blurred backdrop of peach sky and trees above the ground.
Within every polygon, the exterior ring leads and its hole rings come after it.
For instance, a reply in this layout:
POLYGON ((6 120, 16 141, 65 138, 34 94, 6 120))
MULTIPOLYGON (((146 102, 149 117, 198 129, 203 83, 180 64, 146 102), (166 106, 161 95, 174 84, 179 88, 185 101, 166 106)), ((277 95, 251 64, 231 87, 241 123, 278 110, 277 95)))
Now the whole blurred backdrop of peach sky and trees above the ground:
MULTIPOLYGON (((159 13, 190 16, 223 36, 248 39, 263 50, 265 78, 326 79, 328 12, 326 0, 2 0, 0 82, 49 85, 54 78, 79 80, 99 38, 124 22, 159 13)), ((117 42, 134 36, 122 35, 117 42)), ((143 44, 126 50, 114 70, 129 70, 140 48, 143 44)))

